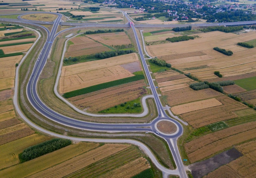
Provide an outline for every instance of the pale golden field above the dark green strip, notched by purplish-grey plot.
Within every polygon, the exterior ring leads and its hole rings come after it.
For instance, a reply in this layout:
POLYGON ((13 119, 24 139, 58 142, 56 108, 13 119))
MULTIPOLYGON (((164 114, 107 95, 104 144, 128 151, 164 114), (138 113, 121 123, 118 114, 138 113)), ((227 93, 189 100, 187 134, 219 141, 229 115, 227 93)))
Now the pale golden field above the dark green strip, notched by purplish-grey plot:
POLYGON ((62 67, 59 92, 66 93, 76 89, 134 76, 121 64, 138 61, 135 53, 103 60, 90 61, 62 67), (121 60, 120 60, 121 59, 121 60))

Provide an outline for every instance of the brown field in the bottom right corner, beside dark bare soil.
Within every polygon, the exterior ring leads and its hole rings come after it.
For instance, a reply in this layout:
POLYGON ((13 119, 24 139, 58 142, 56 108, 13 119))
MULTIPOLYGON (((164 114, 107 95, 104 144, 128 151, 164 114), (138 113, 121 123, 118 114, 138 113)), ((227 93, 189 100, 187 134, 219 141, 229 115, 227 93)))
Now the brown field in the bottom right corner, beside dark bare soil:
POLYGON ((255 140, 236 146, 236 149, 238 149, 244 156, 227 165, 221 166, 209 173, 206 178, 213 178, 223 174, 228 177, 255 177, 255 146, 255 140))

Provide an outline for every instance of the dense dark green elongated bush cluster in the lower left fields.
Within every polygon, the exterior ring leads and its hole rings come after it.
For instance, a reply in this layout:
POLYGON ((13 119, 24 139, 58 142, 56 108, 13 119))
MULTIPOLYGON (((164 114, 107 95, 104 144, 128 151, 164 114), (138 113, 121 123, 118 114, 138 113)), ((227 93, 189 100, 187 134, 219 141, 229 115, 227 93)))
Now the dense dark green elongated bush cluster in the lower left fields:
POLYGON ((29 161, 47 153, 51 153, 55 150, 59 150, 60 148, 66 147, 71 143, 71 140, 67 139, 51 139, 23 150, 21 158, 24 161, 29 161))

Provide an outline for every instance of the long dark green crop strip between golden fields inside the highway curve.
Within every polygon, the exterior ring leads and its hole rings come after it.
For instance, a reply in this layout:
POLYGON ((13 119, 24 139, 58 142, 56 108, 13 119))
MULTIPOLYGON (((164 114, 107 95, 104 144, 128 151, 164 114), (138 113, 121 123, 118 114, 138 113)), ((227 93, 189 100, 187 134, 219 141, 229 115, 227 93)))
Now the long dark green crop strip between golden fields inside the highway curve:
POLYGON ((90 92, 95 92, 95 91, 105 89, 105 88, 109 88, 109 87, 112 87, 112 86, 117 86, 117 85, 121 85, 121 84, 128 83, 128 82, 134 82, 134 81, 137 81, 137 80, 142 80, 144 78, 145 78, 144 75, 139 74, 139 75, 135 75, 133 77, 127 77, 127 78, 123 78, 123 79, 119 79, 119 80, 114 80, 114 81, 111 81, 111 82, 101 83, 101 84, 98 84, 98 85, 89 86, 89 87, 86 87, 86 88, 74 90, 72 92, 64 93, 62 96, 64 98, 71 98, 71 97, 74 97, 74 96, 83 95, 83 94, 90 93, 90 92))

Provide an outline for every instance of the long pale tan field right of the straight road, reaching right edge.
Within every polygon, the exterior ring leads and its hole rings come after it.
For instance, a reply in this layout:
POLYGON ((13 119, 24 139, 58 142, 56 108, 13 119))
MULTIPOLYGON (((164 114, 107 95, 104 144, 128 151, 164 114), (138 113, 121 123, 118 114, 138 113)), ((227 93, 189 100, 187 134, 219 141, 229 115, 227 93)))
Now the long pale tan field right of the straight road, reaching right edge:
POLYGON ((150 45, 146 46, 146 49, 151 56, 164 56, 170 54, 203 51, 212 49, 216 46, 223 47, 223 44, 227 46, 236 44, 237 42, 245 42, 254 39, 255 34, 256 31, 239 35, 233 33, 213 31, 208 33, 197 34, 201 38, 175 43, 150 45), (183 47, 181 47, 181 45, 183 47), (186 46, 186 48, 184 48, 184 46, 186 46))

